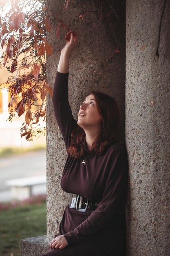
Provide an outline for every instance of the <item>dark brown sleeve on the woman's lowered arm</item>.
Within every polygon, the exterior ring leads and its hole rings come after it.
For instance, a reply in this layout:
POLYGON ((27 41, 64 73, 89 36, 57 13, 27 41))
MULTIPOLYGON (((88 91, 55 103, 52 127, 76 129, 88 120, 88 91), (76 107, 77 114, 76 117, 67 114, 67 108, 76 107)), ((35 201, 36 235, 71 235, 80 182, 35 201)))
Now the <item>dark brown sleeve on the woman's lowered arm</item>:
POLYGON ((77 228, 64 234, 68 245, 81 243, 95 236, 109 225, 110 220, 124 209, 128 186, 128 161, 122 145, 113 150, 106 160, 107 180, 98 207, 77 228))

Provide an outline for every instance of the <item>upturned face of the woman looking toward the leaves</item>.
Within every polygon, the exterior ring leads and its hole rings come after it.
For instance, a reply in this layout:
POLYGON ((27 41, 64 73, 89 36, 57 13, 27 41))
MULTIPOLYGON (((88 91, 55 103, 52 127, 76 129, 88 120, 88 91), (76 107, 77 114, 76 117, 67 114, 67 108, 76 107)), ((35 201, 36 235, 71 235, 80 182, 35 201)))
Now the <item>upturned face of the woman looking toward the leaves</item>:
POLYGON ((100 128, 102 116, 97 109, 97 102, 93 94, 88 95, 80 106, 77 124, 83 129, 100 128))

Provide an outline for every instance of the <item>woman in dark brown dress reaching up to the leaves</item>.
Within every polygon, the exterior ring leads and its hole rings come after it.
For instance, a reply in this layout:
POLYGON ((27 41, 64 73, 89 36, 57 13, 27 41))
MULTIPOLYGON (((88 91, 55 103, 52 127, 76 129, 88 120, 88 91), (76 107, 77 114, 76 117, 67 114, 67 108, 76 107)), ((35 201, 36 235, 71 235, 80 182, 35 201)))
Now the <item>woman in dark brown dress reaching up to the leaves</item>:
POLYGON ((58 126, 68 152, 62 189, 71 194, 51 241, 48 256, 125 256, 125 203, 128 184, 126 148, 119 144, 119 110, 115 100, 92 92, 80 106, 78 121, 68 103, 68 67, 77 45, 66 34, 53 91, 58 126))

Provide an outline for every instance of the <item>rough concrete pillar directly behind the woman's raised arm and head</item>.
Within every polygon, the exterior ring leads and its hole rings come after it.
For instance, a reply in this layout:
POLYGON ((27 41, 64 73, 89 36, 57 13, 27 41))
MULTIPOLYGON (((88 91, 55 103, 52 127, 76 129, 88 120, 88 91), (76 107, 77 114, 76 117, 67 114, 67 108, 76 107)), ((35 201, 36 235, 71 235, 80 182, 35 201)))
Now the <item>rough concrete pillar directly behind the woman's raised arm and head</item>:
MULTIPOLYGON (((114 1, 115 13, 110 12, 107 1, 73 1, 64 13, 64 2, 49 1, 54 13, 60 14, 65 24, 79 34, 69 70, 69 101, 75 119, 79 106, 91 89, 101 90, 115 97, 122 113, 124 126, 125 108, 125 6, 124 1, 114 1), (102 4, 103 3, 103 4, 102 4), (103 6, 103 7, 102 7, 103 6), (84 16, 84 21, 78 18, 84 16), (104 18, 101 19, 101 15, 104 18), (106 17, 105 17, 106 16, 106 17), (118 20, 117 20, 118 17, 118 20), (121 53, 113 52, 117 49, 121 53), (112 57, 113 54, 113 57, 112 57)), ((53 56, 47 58, 48 83, 53 87, 60 58, 65 45, 66 29, 61 29, 58 39, 55 31, 49 35, 53 56)), ((57 233, 69 196, 60 188, 60 178, 66 160, 66 150, 57 127, 51 98, 47 102, 47 236, 49 240, 57 233)), ((124 129, 122 128, 124 139, 124 129)))

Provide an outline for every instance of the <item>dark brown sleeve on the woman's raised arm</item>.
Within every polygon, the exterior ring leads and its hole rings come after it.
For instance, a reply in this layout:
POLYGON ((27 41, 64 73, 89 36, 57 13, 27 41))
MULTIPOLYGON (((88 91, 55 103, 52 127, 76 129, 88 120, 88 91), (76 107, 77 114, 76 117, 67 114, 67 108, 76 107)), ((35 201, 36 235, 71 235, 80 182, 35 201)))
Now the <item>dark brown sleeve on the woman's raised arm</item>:
POLYGON ((62 133, 66 149, 71 143, 71 132, 77 125, 68 102, 68 73, 57 72, 53 89, 53 106, 57 124, 62 133))

